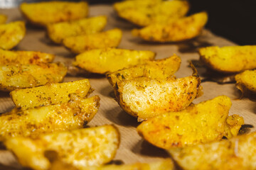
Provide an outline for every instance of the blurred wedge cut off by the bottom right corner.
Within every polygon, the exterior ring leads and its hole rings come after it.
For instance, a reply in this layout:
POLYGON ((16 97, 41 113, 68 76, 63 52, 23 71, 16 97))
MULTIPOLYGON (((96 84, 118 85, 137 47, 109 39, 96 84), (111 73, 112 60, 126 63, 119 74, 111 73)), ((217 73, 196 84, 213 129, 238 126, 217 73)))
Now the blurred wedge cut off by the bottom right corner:
POLYGON ((256 132, 230 140, 169 149, 182 169, 256 169, 256 132))

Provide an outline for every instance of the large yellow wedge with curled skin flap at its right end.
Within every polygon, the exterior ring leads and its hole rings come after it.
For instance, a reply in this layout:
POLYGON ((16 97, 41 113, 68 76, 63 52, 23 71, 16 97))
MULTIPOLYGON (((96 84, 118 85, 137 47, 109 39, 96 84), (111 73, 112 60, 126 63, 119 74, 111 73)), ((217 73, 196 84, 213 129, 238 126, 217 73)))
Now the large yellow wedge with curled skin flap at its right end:
POLYGON ((244 120, 228 116, 230 98, 218 96, 188 106, 183 111, 164 113, 144 121, 137 132, 144 140, 163 149, 186 147, 236 136, 244 120))

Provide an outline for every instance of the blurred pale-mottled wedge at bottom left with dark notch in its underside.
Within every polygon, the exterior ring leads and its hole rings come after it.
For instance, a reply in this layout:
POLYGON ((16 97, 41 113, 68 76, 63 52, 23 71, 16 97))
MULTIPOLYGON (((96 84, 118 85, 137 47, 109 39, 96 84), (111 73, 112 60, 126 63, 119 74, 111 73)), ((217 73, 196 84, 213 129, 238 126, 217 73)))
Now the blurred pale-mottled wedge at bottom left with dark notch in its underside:
POLYGON ((5 145, 23 166, 49 169, 45 153, 57 152, 62 162, 78 168, 110 162, 119 147, 119 131, 114 125, 40 135, 36 139, 12 137, 5 145))

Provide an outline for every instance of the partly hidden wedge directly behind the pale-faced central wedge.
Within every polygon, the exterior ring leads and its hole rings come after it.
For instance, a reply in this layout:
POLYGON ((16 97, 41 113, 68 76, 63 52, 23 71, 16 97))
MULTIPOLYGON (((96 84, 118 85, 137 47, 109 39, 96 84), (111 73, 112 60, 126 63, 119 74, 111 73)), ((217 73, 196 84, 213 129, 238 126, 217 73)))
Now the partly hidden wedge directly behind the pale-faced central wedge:
POLYGON ((119 81, 130 80, 136 77, 166 79, 177 72, 180 65, 181 58, 173 55, 165 59, 148 61, 145 64, 120 69, 117 72, 109 72, 106 74, 106 77, 112 86, 115 86, 119 81))

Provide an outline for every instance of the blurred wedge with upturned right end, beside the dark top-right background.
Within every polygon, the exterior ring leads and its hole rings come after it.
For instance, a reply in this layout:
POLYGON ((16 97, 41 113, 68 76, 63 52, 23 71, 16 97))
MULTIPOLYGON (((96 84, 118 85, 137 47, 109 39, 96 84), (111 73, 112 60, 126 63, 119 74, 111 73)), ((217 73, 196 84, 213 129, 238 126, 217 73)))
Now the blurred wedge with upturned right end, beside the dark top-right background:
POLYGON ((207 13, 201 12, 184 18, 171 19, 166 23, 156 23, 142 29, 134 29, 132 34, 151 42, 189 40, 201 33, 207 20, 207 13))

